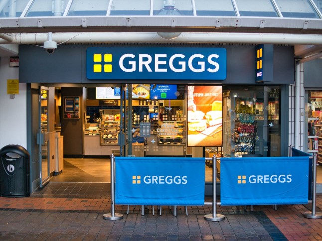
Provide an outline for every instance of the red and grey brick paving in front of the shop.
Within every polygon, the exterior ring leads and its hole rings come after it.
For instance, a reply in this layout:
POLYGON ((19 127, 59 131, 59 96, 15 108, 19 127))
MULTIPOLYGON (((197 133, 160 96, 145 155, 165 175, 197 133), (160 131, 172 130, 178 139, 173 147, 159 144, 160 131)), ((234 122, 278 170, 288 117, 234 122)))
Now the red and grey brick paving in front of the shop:
POLYGON ((124 218, 109 221, 109 184, 50 183, 30 197, 0 197, 0 240, 322 240, 322 219, 303 216, 309 206, 218 206, 225 219, 210 222, 204 215, 211 206, 188 206, 188 216, 180 206, 174 217, 169 207, 161 216, 149 207, 142 216, 140 206, 127 215, 127 206, 116 205, 124 218))

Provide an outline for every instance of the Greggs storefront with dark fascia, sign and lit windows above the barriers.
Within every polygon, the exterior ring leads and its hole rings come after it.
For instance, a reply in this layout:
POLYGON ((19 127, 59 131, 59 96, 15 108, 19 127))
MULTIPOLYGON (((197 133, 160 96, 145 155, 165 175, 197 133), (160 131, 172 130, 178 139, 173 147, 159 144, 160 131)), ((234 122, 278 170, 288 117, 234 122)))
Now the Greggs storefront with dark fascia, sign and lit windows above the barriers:
POLYGON ((20 45, 19 53, 28 146, 43 163, 56 151, 53 135, 63 136, 64 157, 77 158, 288 153, 291 46, 84 44, 47 54, 20 45))

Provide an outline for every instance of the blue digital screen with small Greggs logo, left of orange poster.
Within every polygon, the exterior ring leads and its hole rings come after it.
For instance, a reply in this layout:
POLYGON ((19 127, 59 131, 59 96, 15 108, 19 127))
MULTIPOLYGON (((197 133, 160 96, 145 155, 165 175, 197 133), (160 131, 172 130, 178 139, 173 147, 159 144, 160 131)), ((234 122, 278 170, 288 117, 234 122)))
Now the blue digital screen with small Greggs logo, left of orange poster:
POLYGON ((151 100, 176 100, 180 93, 176 85, 151 85, 151 100))

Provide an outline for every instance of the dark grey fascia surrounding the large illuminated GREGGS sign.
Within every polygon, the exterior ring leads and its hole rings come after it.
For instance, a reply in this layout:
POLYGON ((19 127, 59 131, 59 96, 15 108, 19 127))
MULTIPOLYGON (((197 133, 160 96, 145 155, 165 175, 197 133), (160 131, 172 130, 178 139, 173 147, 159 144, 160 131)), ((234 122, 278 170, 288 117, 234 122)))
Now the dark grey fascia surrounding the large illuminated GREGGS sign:
MULTIPOLYGON (((131 44, 129 44, 131 45, 131 44)), ((127 45, 127 46, 129 46, 127 45)), ((19 81, 21 83, 150 83, 151 80, 88 80, 86 78, 86 49, 89 46, 58 45, 53 54, 34 45, 19 47, 19 81)), ((112 45, 117 46, 117 45, 112 45)), ((120 45, 119 45, 120 46, 120 45)), ((124 45, 121 45, 124 46, 124 45)), ((135 46, 135 45, 134 45, 135 46)), ((140 47, 149 45, 140 45, 140 47)), ((155 45, 154 45, 155 46, 155 45)), ((182 46, 182 45, 180 45, 182 46)), ((187 47, 223 47, 227 49, 227 78, 223 81, 175 80, 172 83, 256 84, 255 45, 185 45, 187 47)), ((294 83, 294 48, 274 46, 274 81, 264 84, 294 83)))

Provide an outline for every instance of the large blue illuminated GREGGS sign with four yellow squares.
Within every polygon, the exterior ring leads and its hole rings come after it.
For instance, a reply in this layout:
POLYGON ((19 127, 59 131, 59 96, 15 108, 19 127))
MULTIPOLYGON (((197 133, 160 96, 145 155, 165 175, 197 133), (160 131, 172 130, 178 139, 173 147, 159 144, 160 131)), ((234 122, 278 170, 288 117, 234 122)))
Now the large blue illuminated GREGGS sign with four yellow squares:
POLYGON ((225 48, 90 47, 88 79, 226 79, 225 48))

